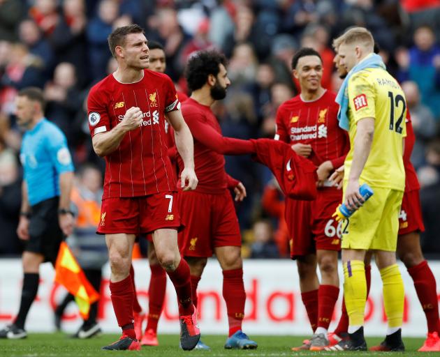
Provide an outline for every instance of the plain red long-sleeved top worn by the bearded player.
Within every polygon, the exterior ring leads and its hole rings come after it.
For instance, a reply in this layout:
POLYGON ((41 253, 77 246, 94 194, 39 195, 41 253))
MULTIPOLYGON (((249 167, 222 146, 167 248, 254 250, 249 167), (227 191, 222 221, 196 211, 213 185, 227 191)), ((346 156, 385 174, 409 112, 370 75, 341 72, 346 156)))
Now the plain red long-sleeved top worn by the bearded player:
MULTIPOLYGON (((252 153, 254 145, 248 140, 223 137, 217 118, 210 107, 189 98, 182 103, 182 114, 194 140, 194 164, 198 185, 196 191, 222 193, 228 188, 223 155, 252 153)), ((180 174, 183 161, 178 155, 180 174)), ((236 181, 237 182, 237 181, 236 181)))

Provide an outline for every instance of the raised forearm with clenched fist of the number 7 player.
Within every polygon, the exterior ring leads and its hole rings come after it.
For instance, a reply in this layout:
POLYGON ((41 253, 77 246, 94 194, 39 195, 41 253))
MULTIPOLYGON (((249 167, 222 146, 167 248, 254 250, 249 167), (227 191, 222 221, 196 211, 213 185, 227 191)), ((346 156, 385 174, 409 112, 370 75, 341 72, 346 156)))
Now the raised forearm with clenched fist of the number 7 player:
POLYGON ((91 139, 93 149, 98 156, 105 156, 112 153, 121 144, 127 132, 140 127, 143 114, 138 107, 131 107, 126 111, 124 119, 112 128, 109 132, 101 132, 91 139))

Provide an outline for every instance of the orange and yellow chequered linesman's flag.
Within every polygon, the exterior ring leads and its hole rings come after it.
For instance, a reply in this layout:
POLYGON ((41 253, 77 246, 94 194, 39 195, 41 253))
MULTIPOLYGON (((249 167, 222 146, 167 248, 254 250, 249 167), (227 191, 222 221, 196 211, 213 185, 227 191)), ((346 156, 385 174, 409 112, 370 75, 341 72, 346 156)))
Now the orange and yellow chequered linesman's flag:
POLYGON ((90 305, 98 301, 99 294, 91 286, 76 261, 66 242, 59 247, 55 264, 55 281, 63 285, 69 293, 75 296, 82 319, 89 318, 90 305))

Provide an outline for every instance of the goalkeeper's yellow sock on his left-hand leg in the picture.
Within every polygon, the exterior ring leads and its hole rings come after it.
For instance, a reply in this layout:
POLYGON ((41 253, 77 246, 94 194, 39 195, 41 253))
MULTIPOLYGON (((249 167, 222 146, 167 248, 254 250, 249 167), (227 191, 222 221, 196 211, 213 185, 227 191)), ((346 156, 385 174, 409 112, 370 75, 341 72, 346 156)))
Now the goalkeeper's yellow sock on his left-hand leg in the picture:
POLYGON ((349 314, 349 326, 363 326, 367 301, 367 281, 363 261, 349 260, 344 263, 344 299, 349 314))

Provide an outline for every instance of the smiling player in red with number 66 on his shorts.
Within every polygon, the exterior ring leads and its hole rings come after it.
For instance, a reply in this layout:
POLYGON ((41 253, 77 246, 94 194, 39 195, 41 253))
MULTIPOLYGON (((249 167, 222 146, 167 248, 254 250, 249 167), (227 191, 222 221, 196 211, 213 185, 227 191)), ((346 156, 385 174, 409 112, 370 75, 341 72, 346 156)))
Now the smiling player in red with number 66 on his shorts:
POLYGON ((286 222, 292 238, 291 257, 297 260, 302 301, 314 331, 311 340, 293 350, 319 351, 328 346, 327 330, 339 296, 337 252, 341 224, 332 218, 342 194, 328 181, 342 165, 349 140, 337 123, 335 93, 323 89, 321 56, 302 48, 292 59, 293 75, 301 93, 284 102, 277 112, 275 139, 292 144, 299 155, 318 167, 318 197, 314 201, 286 198, 286 222), (321 271, 321 284, 316 274, 321 271))

